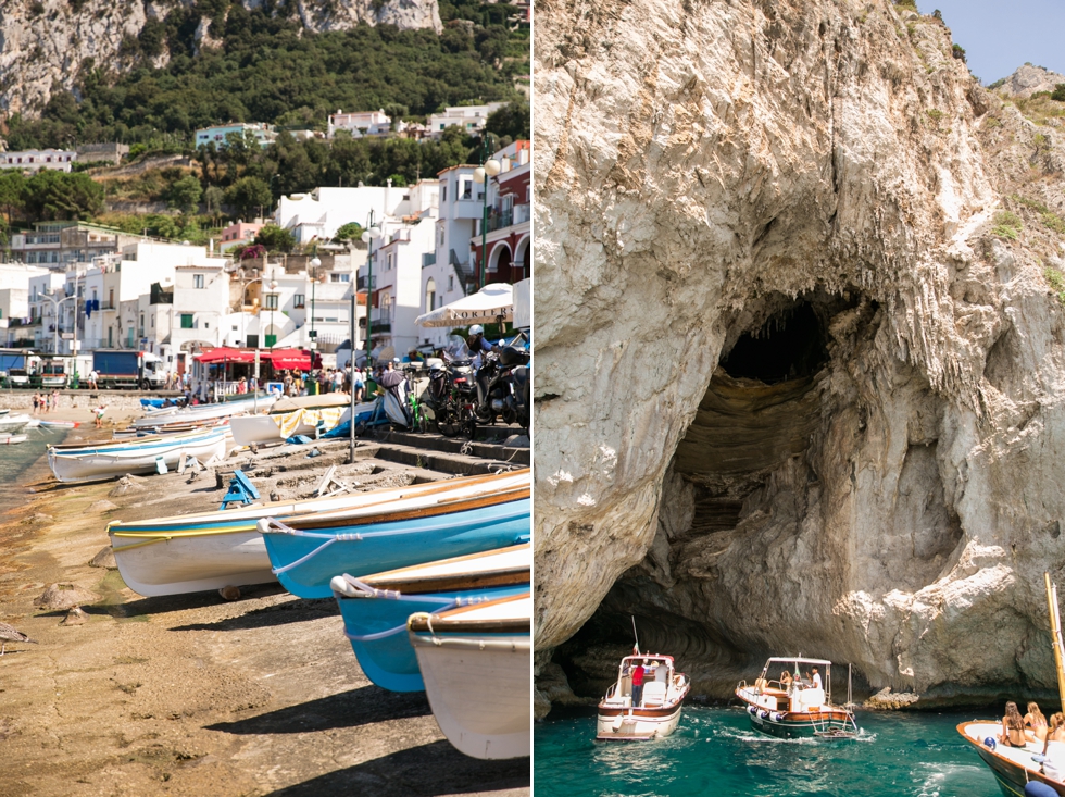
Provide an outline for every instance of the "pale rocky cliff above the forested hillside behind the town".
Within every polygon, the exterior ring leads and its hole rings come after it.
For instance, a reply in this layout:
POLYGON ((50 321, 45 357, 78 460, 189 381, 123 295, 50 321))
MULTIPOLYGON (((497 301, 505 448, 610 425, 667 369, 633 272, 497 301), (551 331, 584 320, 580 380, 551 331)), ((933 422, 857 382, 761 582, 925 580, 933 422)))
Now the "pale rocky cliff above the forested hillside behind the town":
MULTIPOLYGON (((73 88, 83 67, 128 66, 121 58, 123 38, 138 36, 149 20, 165 18, 180 4, 0 0, 0 108, 36 115, 52 87, 73 88)), ((242 0, 242 4, 252 9, 263 2, 242 0)), ((281 8, 276 13, 298 17, 315 33, 342 30, 361 22, 441 30, 437 0, 297 0, 281 8)), ((201 46, 217 43, 205 16, 196 36, 201 46)), ((167 58, 164 52, 155 65, 165 65, 167 58)))

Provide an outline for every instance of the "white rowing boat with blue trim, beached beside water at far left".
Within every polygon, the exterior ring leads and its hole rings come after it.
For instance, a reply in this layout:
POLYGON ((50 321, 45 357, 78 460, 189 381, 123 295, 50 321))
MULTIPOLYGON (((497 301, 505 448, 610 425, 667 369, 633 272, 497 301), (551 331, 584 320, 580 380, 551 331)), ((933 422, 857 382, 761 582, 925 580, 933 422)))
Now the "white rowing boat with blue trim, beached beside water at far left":
POLYGON ((154 473, 160 461, 170 470, 177 466, 183 454, 206 462, 225 452, 226 432, 208 428, 102 445, 52 446, 48 449, 48 465, 60 482, 93 482, 127 473, 154 473))

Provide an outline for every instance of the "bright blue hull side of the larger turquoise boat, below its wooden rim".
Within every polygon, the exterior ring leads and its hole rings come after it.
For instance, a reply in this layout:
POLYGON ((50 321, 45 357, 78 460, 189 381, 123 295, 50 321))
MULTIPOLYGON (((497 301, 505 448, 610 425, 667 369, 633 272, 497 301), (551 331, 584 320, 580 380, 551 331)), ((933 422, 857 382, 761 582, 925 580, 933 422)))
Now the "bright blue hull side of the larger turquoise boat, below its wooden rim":
POLYGON ((527 541, 530 500, 406 520, 339 526, 313 536, 270 533, 266 551, 281 585, 301 598, 333 596, 329 581, 527 541), (375 536, 381 535, 381 536, 375 536))

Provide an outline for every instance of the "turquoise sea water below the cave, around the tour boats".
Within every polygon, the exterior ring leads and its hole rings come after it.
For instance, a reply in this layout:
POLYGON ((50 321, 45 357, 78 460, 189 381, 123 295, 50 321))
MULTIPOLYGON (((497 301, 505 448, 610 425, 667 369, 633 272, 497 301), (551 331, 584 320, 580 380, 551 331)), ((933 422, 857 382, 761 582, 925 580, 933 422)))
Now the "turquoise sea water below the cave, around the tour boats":
POLYGON ((954 730, 985 715, 859 711, 857 738, 786 740, 740 708, 685 706, 668 738, 597 743, 593 709, 556 710, 535 726, 534 783, 566 797, 1001 797, 954 730))

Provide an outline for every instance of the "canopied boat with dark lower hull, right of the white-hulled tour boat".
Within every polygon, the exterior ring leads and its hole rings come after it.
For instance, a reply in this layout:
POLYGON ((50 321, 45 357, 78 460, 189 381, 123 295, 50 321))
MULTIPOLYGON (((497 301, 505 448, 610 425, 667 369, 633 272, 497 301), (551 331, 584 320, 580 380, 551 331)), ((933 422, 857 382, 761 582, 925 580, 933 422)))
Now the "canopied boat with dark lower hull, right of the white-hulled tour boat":
POLYGON ((805 659, 797 656, 770 658, 753 685, 741 681, 736 697, 743 701, 751 718, 751 727, 782 738, 819 736, 825 738, 849 737, 857 732, 854 714, 842 706, 832 705, 832 662, 825 659, 805 659), (800 667, 819 667, 825 670, 825 687, 804 683, 800 667), (793 669, 795 677, 781 684, 768 680, 769 669, 793 669))

